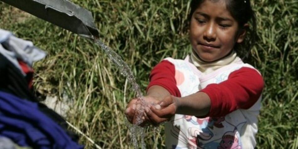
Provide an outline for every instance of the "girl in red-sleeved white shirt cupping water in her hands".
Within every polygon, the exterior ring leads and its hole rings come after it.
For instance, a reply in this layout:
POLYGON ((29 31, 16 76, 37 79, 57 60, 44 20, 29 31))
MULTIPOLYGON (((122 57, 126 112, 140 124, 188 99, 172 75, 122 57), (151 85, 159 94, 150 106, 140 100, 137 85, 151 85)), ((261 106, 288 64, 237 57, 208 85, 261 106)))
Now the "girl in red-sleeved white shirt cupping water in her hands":
POLYGON ((191 54, 153 68, 144 100, 157 105, 131 100, 128 120, 168 121, 167 148, 254 148, 263 79, 237 56, 256 33, 249 0, 192 0, 189 19, 191 54))

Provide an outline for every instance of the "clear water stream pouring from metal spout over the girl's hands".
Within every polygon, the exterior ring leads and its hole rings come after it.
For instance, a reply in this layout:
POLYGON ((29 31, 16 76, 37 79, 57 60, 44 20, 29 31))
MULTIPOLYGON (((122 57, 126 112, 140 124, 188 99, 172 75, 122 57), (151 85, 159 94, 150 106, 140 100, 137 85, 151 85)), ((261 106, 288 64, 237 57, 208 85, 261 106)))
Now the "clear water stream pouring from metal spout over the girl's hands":
POLYGON ((119 56, 116 52, 109 49, 108 46, 106 46, 104 43, 102 43, 100 40, 95 39, 95 43, 97 45, 100 45, 102 49, 106 52, 106 54, 109 56, 109 58, 117 65, 117 67, 120 69, 120 72, 123 76, 127 77, 127 80, 131 83, 131 90, 136 92, 136 97, 138 98, 141 107, 138 109, 140 114, 136 116, 136 123, 134 125, 127 123, 127 126, 130 129, 130 138, 131 142, 133 143, 134 148, 138 148, 138 141, 137 141, 137 135, 140 135, 141 138, 141 148, 145 149, 145 129, 143 127, 140 127, 142 120, 142 111, 144 111, 145 106, 148 106, 148 103, 143 99, 144 96, 140 90, 139 85, 136 83, 136 78, 133 75, 130 67, 125 63, 125 61, 122 60, 121 56, 119 56))

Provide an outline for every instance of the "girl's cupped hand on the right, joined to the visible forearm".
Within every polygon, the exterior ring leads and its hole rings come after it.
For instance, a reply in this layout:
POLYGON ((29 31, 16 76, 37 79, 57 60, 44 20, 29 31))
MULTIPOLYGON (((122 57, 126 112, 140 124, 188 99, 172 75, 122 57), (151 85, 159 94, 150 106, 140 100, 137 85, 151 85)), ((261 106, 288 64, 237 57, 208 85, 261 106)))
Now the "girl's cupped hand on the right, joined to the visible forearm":
POLYGON ((152 125, 158 125, 164 121, 170 120, 178 107, 178 97, 167 96, 159 104, 145 108, 145 118, 150 120, 152 125))

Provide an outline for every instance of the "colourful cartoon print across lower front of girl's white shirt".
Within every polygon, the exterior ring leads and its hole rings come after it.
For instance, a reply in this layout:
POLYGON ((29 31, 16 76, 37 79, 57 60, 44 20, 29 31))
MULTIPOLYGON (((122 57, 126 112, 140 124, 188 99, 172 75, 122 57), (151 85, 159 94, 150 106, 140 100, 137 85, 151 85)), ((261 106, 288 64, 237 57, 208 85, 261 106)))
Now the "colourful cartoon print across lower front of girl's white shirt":
MULTIPOLYGON (((176 117, 177 118, 177 117, 176 117)), ((173 129, 170 130, 171 135, 177 140, 183 142, 186 146, 192 149, 241 149, 242 143, 238 130, 246 122, 241 122, 238 125, 232 125, 227 121, 226 117, 206 117, 197 118, 190 115, 181 115, 175 120, 185 120, 186 123, 190 123, 192 127, 187 129, 187 132, 180 131, 179 125, 172 125, 173 129), (223 136, 214 135, 213 131, 219 129, 225 131, 223 136)), ((172 120, 173 123, 175 120, 172 120)), ((173 144, 174 145, 174 144, 173 144)), ((177 147, 177 146, 176 146, 177 147)))

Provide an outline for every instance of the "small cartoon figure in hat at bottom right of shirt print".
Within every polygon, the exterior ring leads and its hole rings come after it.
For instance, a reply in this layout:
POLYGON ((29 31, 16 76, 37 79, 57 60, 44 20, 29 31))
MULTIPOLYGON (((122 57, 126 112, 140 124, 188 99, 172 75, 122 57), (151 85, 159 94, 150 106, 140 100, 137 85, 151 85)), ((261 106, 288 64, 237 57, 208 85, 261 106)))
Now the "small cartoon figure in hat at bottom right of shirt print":
POLYGON ((220 142, 220 146, 217 149, 241 149, 239 146, 239 133, 235 129, 234 131, 228 131, 222 136, 222 140, 220 142))

